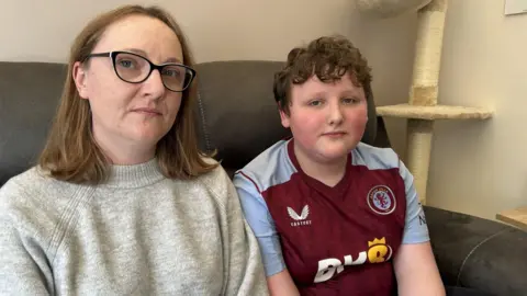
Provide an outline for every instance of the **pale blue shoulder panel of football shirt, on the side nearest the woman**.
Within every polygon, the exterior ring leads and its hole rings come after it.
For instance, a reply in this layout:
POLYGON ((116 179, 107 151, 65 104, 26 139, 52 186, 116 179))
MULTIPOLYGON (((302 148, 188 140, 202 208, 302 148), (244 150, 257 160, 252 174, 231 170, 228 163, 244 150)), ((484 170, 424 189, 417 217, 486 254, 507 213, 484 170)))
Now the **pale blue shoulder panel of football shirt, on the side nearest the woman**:
POLYGON ((259 192, 285 183, 296 172, 288 152, 291 138, 282 139, 264 150, 244 168, 234 173, 235 184, 249 181, 259 192))

